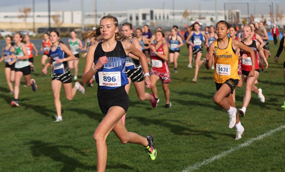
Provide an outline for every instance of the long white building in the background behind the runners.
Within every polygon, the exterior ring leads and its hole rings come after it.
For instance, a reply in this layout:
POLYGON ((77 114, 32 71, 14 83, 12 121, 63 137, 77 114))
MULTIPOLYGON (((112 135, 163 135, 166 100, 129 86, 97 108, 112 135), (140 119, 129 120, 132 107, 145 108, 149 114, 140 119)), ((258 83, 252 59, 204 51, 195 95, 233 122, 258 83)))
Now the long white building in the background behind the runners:
MULTIPOLYGON (((170 9, 150 9, 141 8, 126 11, 114 11, 112 15, 118 18, 120 24, 124 22, 132 23, 134 26, 184 26, 190 25, 196 21, 206 26, 213 25, 216 18, 214 10, 170 10, 170 9)), ((224 11, 217 11, 218 20, 224 20, 224 11)), ((240 10, 231 10, 231 14, 226 13, 226 18, 232 23, 241 23, 240 10)), ((96 25, 99 25, 100 19, 111 12, 97 12, 96 25)), ((68 24, 81 24, 81 11, 53 11, 51 16, 57 16, 60 21, 68 24)), ((22 23, 24 16, 20 12, 0 12, 0 22, 22 23), (21 16, 19 18, 19 16, 21 16)), ((53 18, 50 19, 54 23, 53 18)), ((26 18, 27 23, 33 22, 33 12, 30 12, 26 18)), ((36 23, 48 23, 48 12, 35 12, 36 23)), ((93 12, 85 12, 85 24, 95 24, 93 12)))

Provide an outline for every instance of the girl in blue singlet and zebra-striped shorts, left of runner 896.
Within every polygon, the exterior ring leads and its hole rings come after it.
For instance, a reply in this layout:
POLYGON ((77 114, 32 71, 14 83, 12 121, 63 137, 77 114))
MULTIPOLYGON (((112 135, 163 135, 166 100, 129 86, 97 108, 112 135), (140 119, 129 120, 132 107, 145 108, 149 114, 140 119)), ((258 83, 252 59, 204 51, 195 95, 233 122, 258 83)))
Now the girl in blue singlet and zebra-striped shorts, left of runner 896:
POLYGON ((72 100, 77 90, 81 91, 82 94, 85 93, 84 87, 79 82, 76 82, 75 86, 72 88, 72 77, 67 61, 74 60, 75 56, 66 45, 58 41, 59 38, 58 31, 50 32, 50 41, 52 43, 52 46, 49 48, 50 59, 42 70, 42 73, 46 75, 48 67, 53 65, 51 87, 53 89, 54 104, 56 106, 57 113, 57 116, 55 116, 55 122, 62 121, 60 101, 60 90, 62 84, 64 86, 67 100, 72 100))

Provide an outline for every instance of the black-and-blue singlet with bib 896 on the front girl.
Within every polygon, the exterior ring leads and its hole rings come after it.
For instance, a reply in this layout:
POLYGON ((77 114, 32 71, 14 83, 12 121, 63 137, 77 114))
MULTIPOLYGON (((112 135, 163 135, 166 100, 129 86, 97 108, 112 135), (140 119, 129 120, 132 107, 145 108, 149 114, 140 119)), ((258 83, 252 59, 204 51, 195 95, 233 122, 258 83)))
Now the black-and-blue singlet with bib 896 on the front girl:
POLYGON ((105 63, 95 74, 96 83, 99 89, 115 89, 129 83, 125 74, 126 52, 121 41, 117 41, 116 47, 112 51, 105 52, 100 42, 94 52, 94 64, 99 57, 107 56, 108 63, 105 63))

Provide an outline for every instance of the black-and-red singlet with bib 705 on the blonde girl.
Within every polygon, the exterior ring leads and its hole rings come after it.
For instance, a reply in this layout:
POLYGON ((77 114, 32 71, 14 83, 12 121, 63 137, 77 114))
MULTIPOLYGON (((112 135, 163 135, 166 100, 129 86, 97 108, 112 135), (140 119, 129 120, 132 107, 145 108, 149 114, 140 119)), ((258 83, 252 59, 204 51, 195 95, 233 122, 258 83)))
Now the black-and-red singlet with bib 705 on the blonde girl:
MULTIPOLYGON (((243 41, 241 41, 244 45, 246 45, 243 41)), ((257 47, 256 47, 256 42, 254 40, 252 40, 251 45, 246 45, 249 48, 251 48, 254 51, 254 55, 255 55, 255 69, 259 69, 258 66, 258 57, 257 57, 257 47)), ((244 51, 244 50, 240 50, 240 56, 243 56, 243 54, 246 54, 247 59, 241 59, 241 70, 245 70, 245 71, 251 71, 252 68, 252 61, 250 58, 250 53, 244 51)))

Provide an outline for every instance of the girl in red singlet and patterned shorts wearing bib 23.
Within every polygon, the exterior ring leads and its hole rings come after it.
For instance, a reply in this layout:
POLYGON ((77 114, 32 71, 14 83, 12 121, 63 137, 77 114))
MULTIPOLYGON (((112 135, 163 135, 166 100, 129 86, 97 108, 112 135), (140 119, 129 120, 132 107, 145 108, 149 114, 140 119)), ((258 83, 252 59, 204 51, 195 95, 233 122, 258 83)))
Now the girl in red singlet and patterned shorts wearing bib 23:
POLYGON ((159 102, 157 95, 156 82, 160 79, 162 81, 162 88, 166 99, 166 108, 171 108, 171 102, 169 101, 170 90, 168 84, 170 83, 170 72, 168 67, 168 46, 163 43, 164 33, 162 31, 155 32, 156 44, 151 46, 151 88, 156 102, 159 102))

